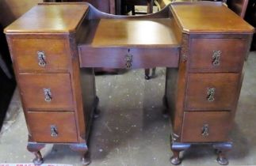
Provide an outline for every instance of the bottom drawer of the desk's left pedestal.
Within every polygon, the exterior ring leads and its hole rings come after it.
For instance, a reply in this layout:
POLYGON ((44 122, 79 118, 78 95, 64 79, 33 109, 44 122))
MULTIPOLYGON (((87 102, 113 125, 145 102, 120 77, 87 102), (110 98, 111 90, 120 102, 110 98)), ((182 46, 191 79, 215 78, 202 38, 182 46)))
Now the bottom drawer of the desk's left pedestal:
POLYGON ((27 122, 36 142, 76 142, 78 136, 73 112, 29 111, 27 122))

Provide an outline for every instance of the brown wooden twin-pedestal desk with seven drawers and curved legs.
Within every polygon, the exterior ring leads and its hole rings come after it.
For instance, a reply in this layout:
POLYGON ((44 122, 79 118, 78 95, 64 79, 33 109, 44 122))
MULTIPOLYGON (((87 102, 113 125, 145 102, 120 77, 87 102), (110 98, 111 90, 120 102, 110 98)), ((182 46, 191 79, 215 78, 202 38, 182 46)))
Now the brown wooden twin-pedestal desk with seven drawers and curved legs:
POLYGON ((86 3, 40 4, 5 32, 35 164, 43 162, 46 143, 70 145, 82 153, 82 164, 90 163, 94 67, 153 66, 166 66, 171 163, 180 164, 180 151, 200 143, 212 144, 218 162, 228 163, 227 135, 254 28, 222 3, 174 3, 139 17, 101 13, 86 3))

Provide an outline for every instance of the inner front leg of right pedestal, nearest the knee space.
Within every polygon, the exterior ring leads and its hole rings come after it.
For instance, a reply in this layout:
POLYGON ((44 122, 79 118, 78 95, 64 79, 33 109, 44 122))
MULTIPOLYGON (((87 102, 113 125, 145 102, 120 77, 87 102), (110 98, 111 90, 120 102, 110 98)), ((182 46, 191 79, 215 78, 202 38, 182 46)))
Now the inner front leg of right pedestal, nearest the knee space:
POLYGON ((170 163, 174 165, 181 164, 180 152, 188 149, 190 144, 173 142, 170 145, 170 149, 173 151, 173 157, 170 157, 170 163))

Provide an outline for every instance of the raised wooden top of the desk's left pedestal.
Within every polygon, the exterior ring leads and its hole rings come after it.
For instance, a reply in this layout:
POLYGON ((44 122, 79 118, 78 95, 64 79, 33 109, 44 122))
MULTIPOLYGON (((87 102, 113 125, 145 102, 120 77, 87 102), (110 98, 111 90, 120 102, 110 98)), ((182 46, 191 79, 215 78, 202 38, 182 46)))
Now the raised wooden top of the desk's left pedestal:
POLYGON ((6 33, 75 32, 86 14, 85 3, 47 5, 32 7, 6 29, 6 33))

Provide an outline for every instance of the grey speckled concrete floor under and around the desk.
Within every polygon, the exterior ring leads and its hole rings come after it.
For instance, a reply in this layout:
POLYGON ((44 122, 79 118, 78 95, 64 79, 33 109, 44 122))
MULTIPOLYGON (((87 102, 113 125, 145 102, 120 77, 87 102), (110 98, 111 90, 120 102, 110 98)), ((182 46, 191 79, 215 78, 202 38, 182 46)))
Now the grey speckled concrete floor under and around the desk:
MULTIPOLYGON (((256 165, 256 53, 250 53, 231 130, 234 148, 229 165, 256 165)), ((94 120, 90 137, 90 166, 165 166, 169 162, 170 121, 162 117, 165 70, 144 80, 143 70, 120 75, 97 76, 97 96, 101 116, 94 120)), ((0 134, 0 163, 29 163, 27 129, 17 91, 0 134)), ((47 145, 42 150, 45 163, 80 165, 80 156, 67 145, 47 145)), ((195 145, 182 153, 181 165, 219 165, 209 145, 195 145)))

